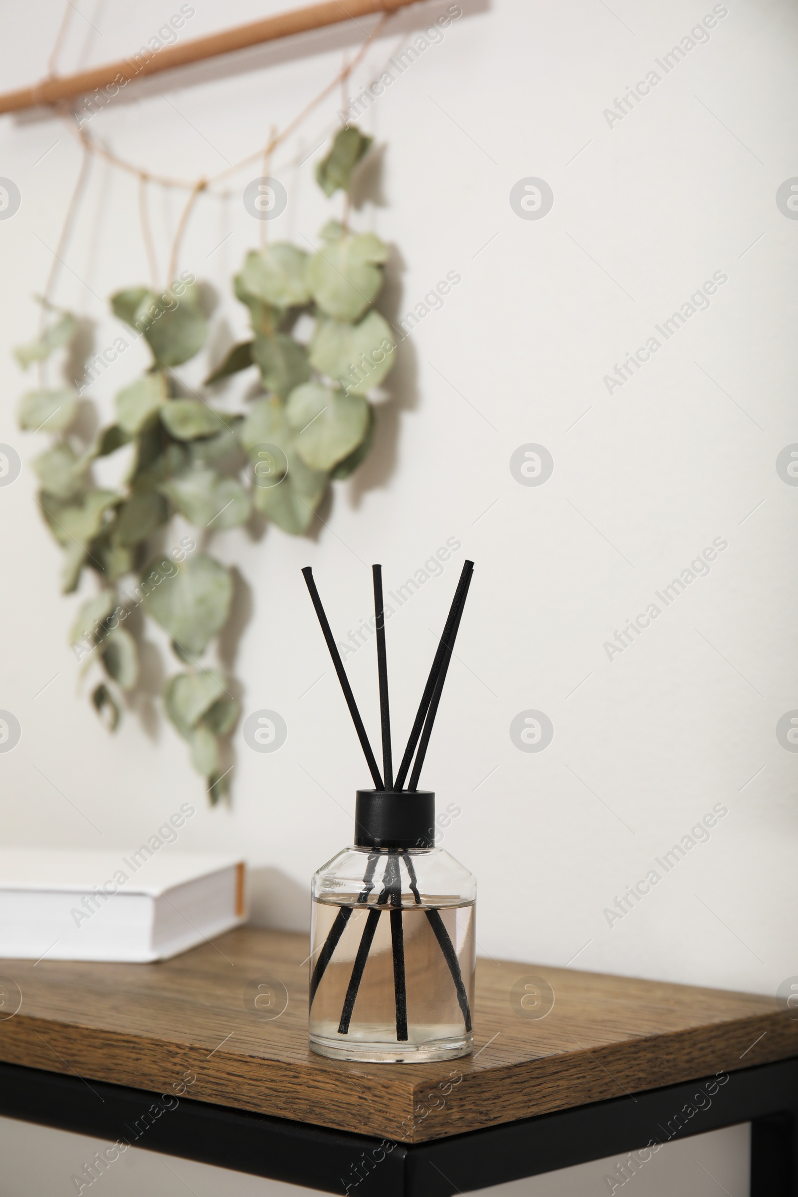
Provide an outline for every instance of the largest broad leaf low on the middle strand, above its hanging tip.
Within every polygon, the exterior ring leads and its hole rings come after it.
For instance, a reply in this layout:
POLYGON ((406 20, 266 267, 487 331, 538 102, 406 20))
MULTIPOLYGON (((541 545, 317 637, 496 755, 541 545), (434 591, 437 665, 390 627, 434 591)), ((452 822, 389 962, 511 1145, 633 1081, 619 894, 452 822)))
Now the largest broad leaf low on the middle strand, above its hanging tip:
POLYGON ((179 565, 167 558, 151 561, 141 587, 148 591, 147 614, 194 656, 205 652, 230 614, 230 570, 207 553, 196 553, 179 565))

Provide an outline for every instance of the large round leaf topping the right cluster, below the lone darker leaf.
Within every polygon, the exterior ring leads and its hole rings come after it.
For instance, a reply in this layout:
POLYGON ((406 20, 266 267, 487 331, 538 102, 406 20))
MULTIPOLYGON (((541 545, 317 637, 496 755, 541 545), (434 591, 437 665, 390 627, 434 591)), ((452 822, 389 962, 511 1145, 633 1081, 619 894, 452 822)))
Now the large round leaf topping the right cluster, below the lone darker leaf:
POLYGON ((310 290, 322 311, 334 320, 358 320, 383 285, 376 263, 388 254, 388 245, 371 232, 327 239, 307 263, 310 290))

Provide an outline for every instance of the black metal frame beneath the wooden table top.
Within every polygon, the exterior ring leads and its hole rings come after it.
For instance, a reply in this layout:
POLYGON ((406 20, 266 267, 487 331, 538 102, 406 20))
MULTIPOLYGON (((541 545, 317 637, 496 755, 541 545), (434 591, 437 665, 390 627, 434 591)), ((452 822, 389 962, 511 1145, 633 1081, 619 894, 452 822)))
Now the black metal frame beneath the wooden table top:
POLYGON ((348 1197, 452 1197, 604 1156, 623 1163, 652 1140, 750 1122, 751 1197, 798 1197, 798 1057, 730 1073, 707 1106, 695 1094, 712 1092, 713 1080, 392 1148, 185 1098, 163 1108, 160 1095, 144 1089, 16 1064, 0 1064, 0 1114, 348 1197), (142 1126, 153 1104, 162 1114, 134 1138, 132 1128, 142 1126), (694 1113, 680 1116, 686 1107, 694 1113))

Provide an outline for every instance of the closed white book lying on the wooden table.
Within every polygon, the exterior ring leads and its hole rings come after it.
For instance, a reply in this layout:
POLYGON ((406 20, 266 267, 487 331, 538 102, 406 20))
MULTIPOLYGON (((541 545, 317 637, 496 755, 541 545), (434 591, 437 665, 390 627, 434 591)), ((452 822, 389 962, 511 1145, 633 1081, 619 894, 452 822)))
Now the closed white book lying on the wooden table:
POLYGON ((165 960, 244 922, 236 857, 0 849, 0 958, 165 960))

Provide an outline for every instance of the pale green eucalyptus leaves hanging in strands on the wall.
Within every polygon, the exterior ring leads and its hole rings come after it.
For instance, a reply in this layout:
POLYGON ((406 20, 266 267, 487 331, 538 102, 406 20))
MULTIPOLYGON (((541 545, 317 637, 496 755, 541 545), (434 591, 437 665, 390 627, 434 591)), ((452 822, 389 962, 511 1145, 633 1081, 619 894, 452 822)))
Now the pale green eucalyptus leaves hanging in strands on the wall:
MULTIPOLYGON (((347 211, 353 170, 370 144, 346 127, 317 166, 323 192, 345 192, 347 211)), ((85 569, 99 585, 71 632, 83 668, 99 661, 104 669, 92 703, 115 729, 122 695, 139 681, 141 622, 132 616, 140 608, 170 636, 185 666, 166 681, 164 707, 207 778, 212 802, 227 790, 221 758, 239 705, 231 680, 202 664, 233 596, 231 571, 206 552, 206 540, 246 523, 252 511, 287 533, 305 533, 330 480, 348 478, 368 452, 368 395, 395 359, 391 330, 372 306, 388 247, 337 220, 324 225, 321 241, 315 254, 287 242, 251 250, 233 280, 252 336, 233 346, 206 387, 256 366, 262 388, 244 412, 181 394, 173 367, 194 358, 207 338, 200 292, 187 272, 164 294, 142 286, 111 297, 114 315, 144 336, 152 363, 117 393, 116 420, 91 445, 79 436, 74 389, 29 391, 19 408, 23 429, 53 437, 33 469, 44 521, 65 551, 63 593, 79 587, 85 569), (296 332, 301 315, 315 321, 307 340, 296 332), (98 488, 92 463, 123 445, 133 446, 123 490, 98 488), (202 545, 183 536, 157 552, 153 540, 167 542, 163 533, 176 515, 202 530, 202 545)), ((75 317, 45 304, 42 335, 18 347, 17 359, 25 369, 44 363, 77 336, 75 317)))

